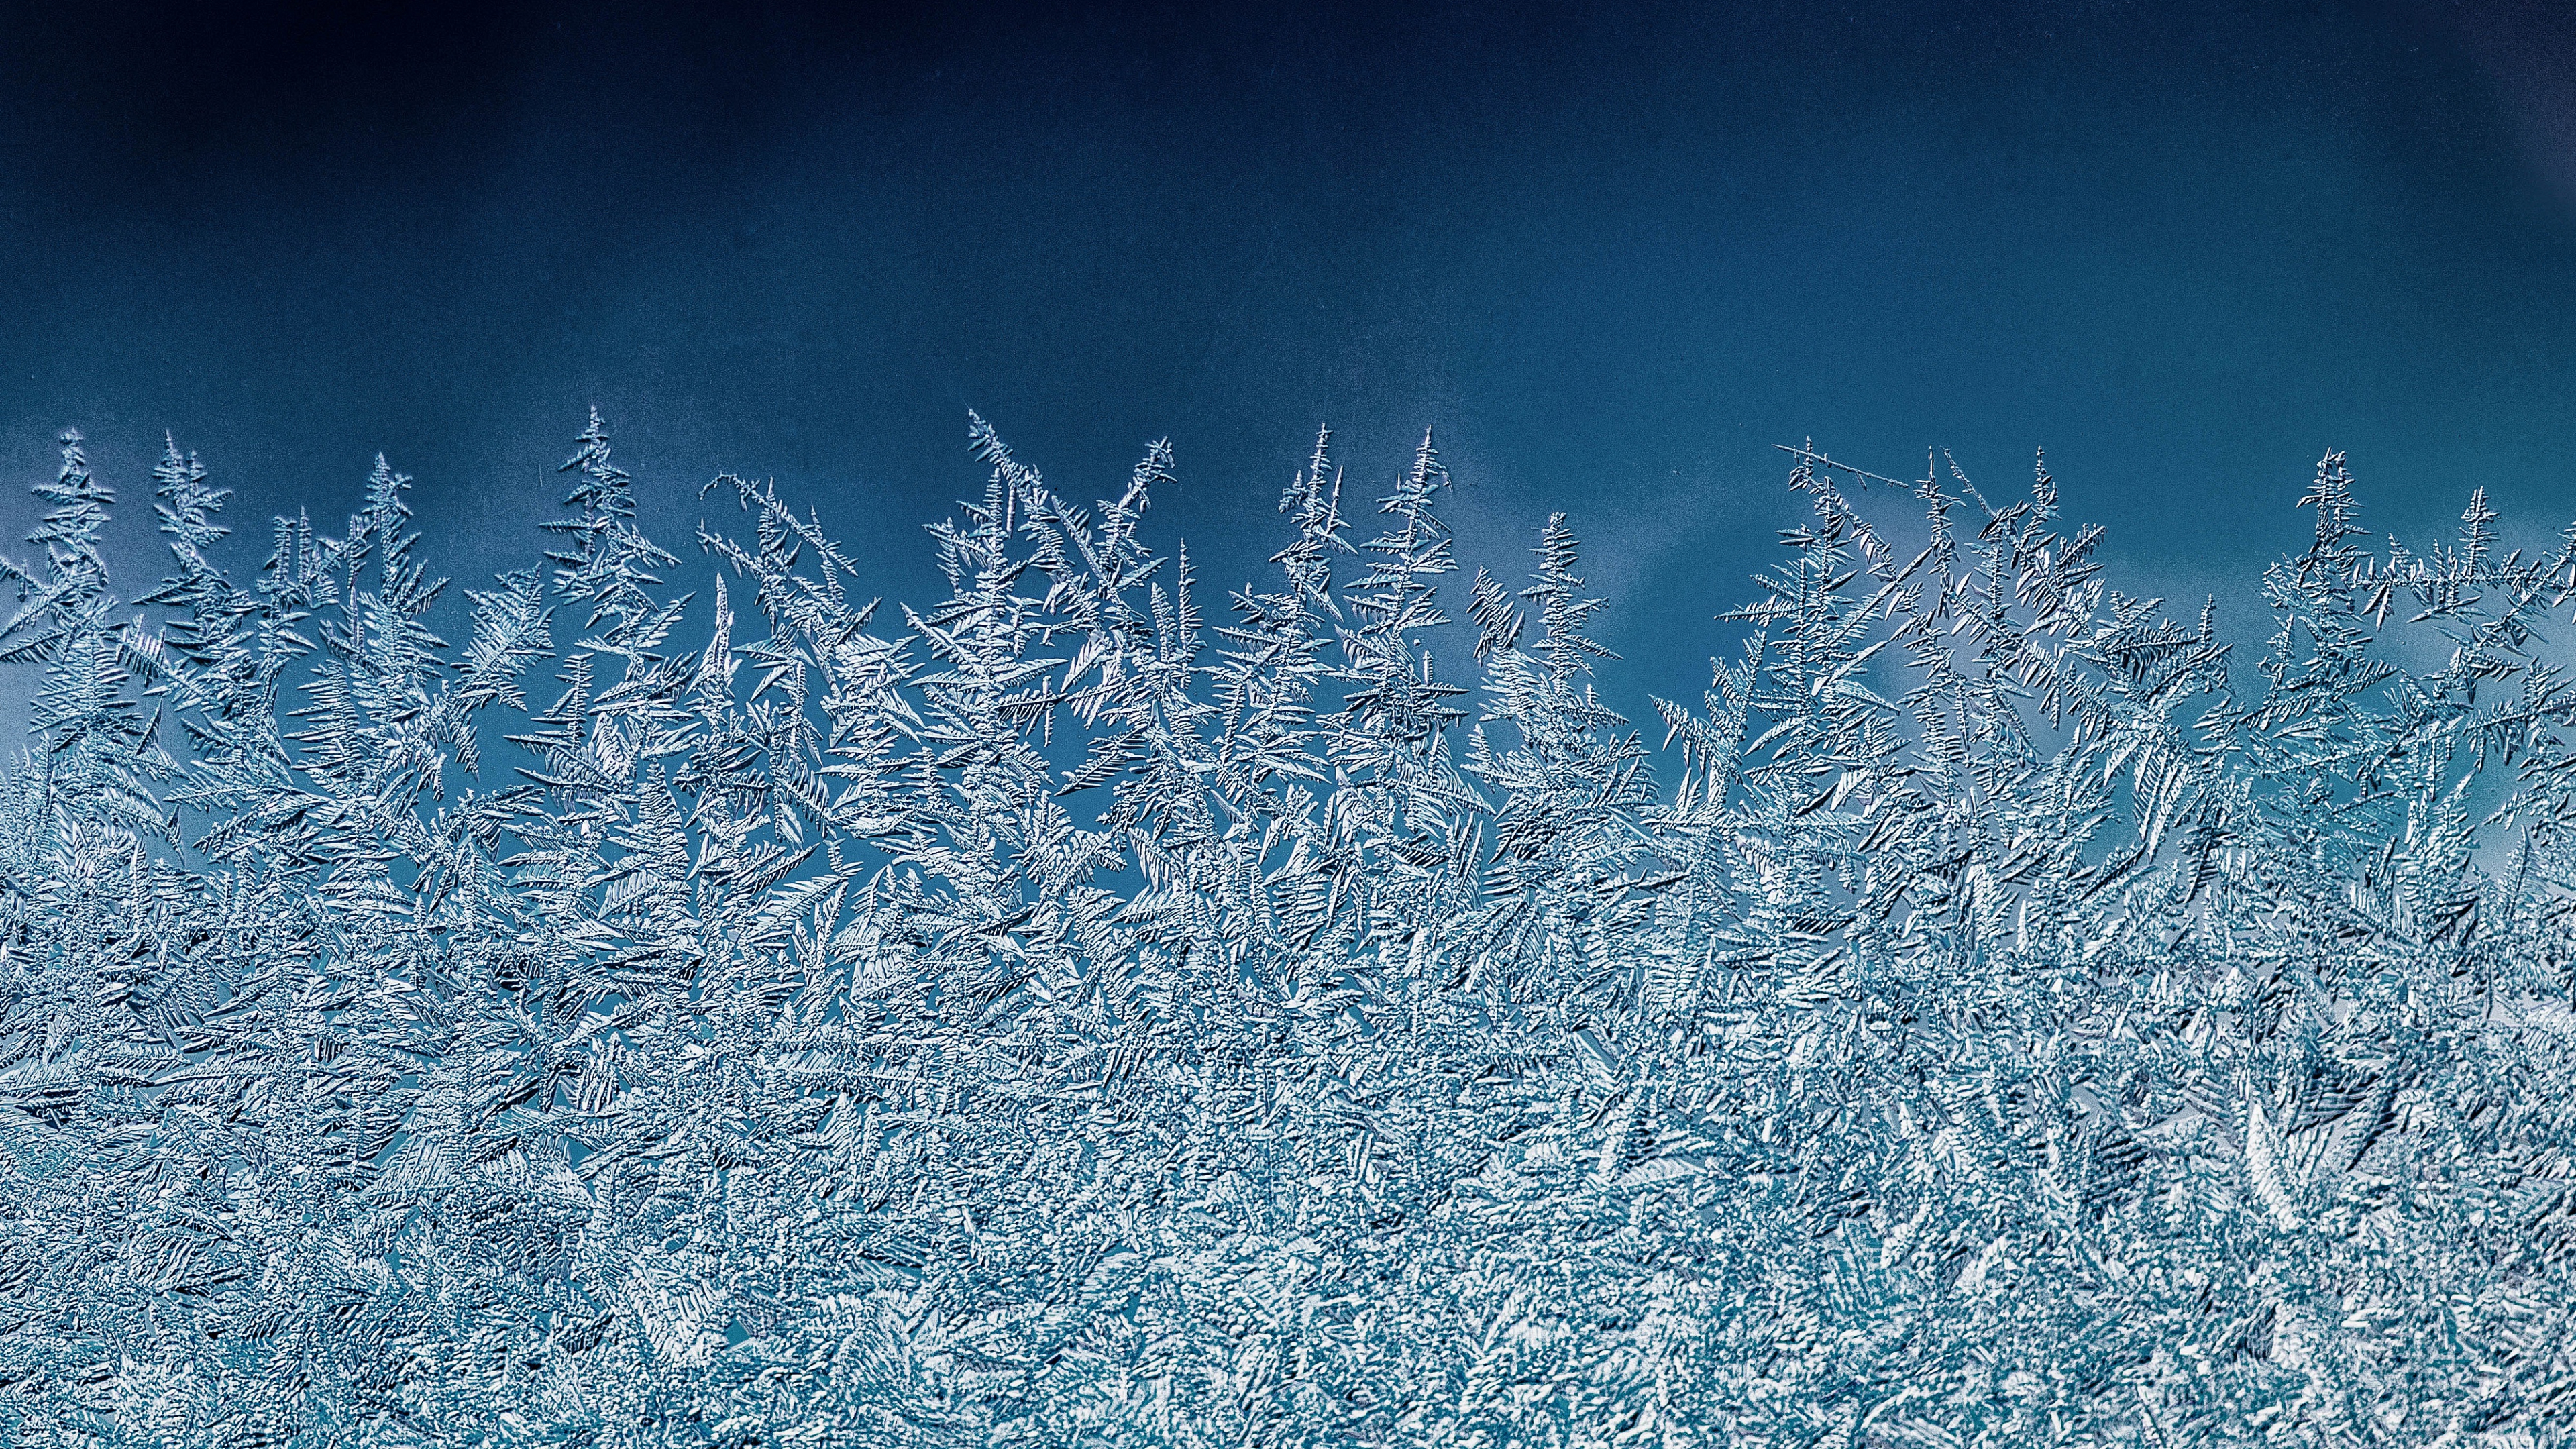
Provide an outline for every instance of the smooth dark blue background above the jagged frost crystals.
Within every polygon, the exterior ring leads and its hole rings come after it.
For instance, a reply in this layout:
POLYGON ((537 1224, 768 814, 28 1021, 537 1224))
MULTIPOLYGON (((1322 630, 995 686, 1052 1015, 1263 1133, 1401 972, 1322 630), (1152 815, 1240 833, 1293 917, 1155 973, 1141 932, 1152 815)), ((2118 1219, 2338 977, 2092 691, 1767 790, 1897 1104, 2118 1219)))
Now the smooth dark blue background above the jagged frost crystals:
POLYGON ((0 474, 80 425, 129 590, 162 428, 237 567, 381 449, 471 583, 592 402, 670 544, 775 477, 899 598, 966 407, 1074 498, 1170 436, 1211 606, 1319 420, 1363 495, 1437 425, 1468 567, 1571 513, 1633 714, 1806 436, 2045 446, 2117 585, 2246 627, 2329 446, 2414 539, 2576 513, 2543 5, 345 10, 0 5, 0 474))

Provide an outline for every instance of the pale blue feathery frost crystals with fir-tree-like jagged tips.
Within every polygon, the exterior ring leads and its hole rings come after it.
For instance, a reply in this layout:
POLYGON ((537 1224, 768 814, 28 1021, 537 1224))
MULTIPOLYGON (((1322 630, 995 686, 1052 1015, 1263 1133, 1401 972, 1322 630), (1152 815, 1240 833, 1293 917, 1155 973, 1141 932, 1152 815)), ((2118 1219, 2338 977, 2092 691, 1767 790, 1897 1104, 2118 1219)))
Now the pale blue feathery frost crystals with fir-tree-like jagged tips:
POLYGON ((0 1434, 2576 1436, 2576 534, 2367 552, 2329 456, 2231 686, 2045 474, 1798 449, 1659 781, 1561 516, 1440 590, 1430 441, 1365 541, 1319 441, 1224 624, 1162 446, 974 441, 951 598, 726 477, 685 624, 592 420, 451 647, 384 464, 237 583, 173 446, 118 603, 67 438, 0 1434))

